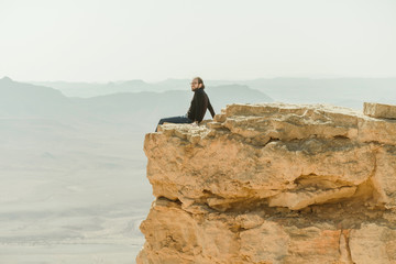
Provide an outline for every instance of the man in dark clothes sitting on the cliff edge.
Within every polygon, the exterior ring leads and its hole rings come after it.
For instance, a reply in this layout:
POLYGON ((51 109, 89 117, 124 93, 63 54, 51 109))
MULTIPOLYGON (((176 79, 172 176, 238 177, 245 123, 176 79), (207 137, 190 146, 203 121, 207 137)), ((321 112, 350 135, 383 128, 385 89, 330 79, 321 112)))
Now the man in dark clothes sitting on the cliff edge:
MULTIPOLYGON (((205 89, 204 80, 200 77, 196 77, 193 79, 190 85, 191 85, 191 91, 194 91, 194 97, 187 114, 182 117, 161 119, 158 125, 167 122, 167 123, 193 123, 193 125, 196 127, 202 121, 207 109, 209 109, 212 118, 215 117, 215 110, 210 105, 209 97, 204 91, 205 89)), ((157 129, 155 129, 155 132, 157 132, 157 129)))

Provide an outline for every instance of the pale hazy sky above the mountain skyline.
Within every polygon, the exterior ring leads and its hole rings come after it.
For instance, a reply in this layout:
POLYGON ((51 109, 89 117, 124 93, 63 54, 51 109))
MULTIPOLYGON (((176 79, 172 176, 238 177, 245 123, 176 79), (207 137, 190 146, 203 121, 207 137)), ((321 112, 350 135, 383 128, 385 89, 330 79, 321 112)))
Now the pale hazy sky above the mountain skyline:
POLYGON ((396 77, 396 0, 0 0, 0 78, 396 77))

